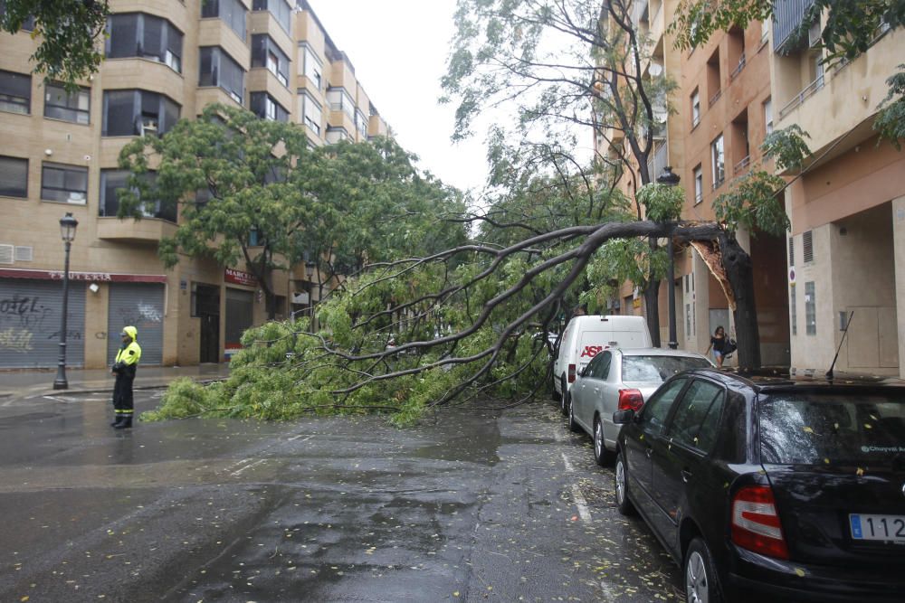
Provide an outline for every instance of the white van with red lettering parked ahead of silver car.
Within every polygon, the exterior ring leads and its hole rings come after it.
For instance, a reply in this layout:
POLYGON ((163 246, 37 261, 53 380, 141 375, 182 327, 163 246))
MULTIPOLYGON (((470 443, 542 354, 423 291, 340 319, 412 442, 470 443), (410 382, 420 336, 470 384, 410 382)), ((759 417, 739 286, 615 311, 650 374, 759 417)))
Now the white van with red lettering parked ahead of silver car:
POLYGON ((598 352, 610 347, 653 347, 643 316, 573 316, 559 342, 553 363, 553 397, 565 411, 566 396, 575 377, 598 352))

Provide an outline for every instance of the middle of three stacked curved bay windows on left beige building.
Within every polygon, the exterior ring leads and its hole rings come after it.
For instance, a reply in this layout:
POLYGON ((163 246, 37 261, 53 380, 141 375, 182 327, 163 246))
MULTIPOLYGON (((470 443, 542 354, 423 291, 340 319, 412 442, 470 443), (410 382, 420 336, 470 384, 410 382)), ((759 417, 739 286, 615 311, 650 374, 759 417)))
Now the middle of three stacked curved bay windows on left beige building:
POLYGON ((180 107, 157 92, 106 90, 101 136, 162 136, 179 120, 180 107))

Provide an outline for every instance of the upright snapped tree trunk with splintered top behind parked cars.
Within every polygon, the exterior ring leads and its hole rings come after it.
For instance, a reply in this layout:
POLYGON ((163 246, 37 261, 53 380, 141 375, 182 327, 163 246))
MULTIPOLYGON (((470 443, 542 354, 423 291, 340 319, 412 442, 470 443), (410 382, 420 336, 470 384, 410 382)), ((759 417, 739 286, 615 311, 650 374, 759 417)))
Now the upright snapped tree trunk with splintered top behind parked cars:
POLYGON ((733 313, 738 344, 738 366, 746 369, 760 366, 760 332, 757 328, 757 305, 754 299, 754 271, 751 256, 738 245, 730 233, 719 235, 719 251, 735 296, 733 313))

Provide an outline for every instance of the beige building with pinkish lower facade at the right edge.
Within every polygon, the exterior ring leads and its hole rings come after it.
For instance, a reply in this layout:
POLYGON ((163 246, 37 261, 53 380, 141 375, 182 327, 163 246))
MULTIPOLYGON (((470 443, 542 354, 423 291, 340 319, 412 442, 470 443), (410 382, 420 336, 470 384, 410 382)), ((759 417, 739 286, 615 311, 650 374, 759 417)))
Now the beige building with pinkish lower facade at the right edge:
POLYGON ((905 153, 872 129, 905 32, 883 27, 867 52, 825 68, 824 23, 794 35, 812 4, 781 5, 770 62, 776 127, 801 127, 814 152, 786 190, 792 366, 825 371, 838 348, 839 370, 905 376, 905 153))

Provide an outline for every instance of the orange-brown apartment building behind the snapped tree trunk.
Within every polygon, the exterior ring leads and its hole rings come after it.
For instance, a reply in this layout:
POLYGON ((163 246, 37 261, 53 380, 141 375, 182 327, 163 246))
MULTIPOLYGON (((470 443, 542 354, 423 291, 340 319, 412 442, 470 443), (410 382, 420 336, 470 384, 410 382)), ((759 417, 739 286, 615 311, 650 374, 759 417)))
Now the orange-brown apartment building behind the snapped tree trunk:
MULTIPOLYGON (((760 146, 773 129, 769 24, 718 32, 691 51, 681 52, 681 86, 673 118, 687 134, 681 174, 686 204, 682 218, 713 221, 713 202, 732 180, 763 165, 760 146)), ((673 50, 679 54, 678 51, 673 50)), ((751 257, 755 281, 761 362, 789 361, 785 240, 766 232, 738 231, 751 257)), ((722 325, 734 329, 729 283, 721 276, 719 250, 694 243, 676 257, 680 347, 703 351, 722 325), (718 275, 718 276, 715 276, 718 275)))

